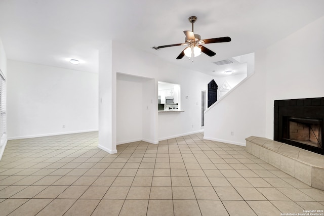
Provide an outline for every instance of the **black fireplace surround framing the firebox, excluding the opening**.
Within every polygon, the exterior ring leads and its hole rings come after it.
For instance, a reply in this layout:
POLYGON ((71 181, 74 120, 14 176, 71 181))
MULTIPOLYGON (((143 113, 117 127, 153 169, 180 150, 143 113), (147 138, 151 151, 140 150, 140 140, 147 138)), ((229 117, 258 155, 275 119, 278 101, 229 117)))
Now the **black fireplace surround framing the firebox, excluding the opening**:
POLYGON ((274 101, 274 133, 273 140, 293 145, 308 151, 324 155, 323 144, 322 148, 306 145, 300 142, 285 138, 284 133, 287 133, 288 118, 309 118, 321 119, 321 137, 324 138, 324 98, 304 98, 290 100, 275 100, 274 101))

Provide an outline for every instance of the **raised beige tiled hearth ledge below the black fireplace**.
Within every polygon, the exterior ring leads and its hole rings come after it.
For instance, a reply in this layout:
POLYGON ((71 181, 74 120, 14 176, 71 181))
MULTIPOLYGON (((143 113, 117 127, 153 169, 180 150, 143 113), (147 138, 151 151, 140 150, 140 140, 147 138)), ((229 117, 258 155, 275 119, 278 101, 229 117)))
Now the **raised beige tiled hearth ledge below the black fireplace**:
POLYGON ((324 190, 324 156, 266 138, 249 137, 246 151, 305 184, 324 190))

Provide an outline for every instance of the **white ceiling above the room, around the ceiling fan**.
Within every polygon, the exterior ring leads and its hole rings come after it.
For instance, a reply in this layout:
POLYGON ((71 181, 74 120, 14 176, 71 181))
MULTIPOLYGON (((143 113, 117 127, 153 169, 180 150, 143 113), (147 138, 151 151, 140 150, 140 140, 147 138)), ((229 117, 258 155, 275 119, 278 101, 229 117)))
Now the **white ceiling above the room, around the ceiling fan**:
POLYGON ((118 40, 212 74, 213 62, 265 48, 324 16, 323 9, 323 0, 0 0, 0 38, 13 60, 97 72, 98 49, 118 40), (190 16, 197 16, 194 32, 201 38, 232 41, 206 45, 216 56, 194 62, 176 60, 182 46, 151 49, 184 42, 190 16), (72 65, 70 58, 83 62, 72 65))

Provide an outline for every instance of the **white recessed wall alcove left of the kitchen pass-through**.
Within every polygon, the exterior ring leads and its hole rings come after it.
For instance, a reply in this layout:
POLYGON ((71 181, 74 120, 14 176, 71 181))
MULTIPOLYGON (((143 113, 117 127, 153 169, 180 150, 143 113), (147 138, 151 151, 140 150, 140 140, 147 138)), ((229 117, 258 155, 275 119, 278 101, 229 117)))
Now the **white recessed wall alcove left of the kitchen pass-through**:
POLYGON ((158 143, 155 79, 117 73, 117 144, 158 143))

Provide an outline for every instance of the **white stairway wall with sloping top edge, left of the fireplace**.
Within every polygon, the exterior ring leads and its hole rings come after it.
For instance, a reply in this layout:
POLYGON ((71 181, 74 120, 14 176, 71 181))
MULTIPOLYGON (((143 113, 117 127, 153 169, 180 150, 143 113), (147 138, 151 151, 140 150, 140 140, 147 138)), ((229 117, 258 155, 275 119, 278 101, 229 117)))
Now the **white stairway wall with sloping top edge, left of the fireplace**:
POLYGON ((255 54, 254 74, 205 112, 205 139, 245 145, 249 136, 264 136, 265 52, 255 54))

